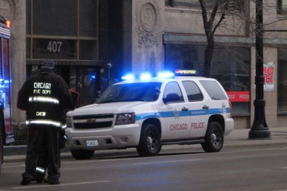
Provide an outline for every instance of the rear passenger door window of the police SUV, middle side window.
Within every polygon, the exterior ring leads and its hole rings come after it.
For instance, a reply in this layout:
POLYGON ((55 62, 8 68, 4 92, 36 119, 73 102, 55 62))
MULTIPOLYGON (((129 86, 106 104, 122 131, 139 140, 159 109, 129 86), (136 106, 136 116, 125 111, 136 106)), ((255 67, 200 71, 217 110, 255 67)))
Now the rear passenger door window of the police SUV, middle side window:
POLYGON ((202 93, 198 88, 198 85, 192 81, 183 81, 182 82, 184 89, 186 91, 187 97, 189 98, 189 102, 201 101, 203 100, 202 93))

